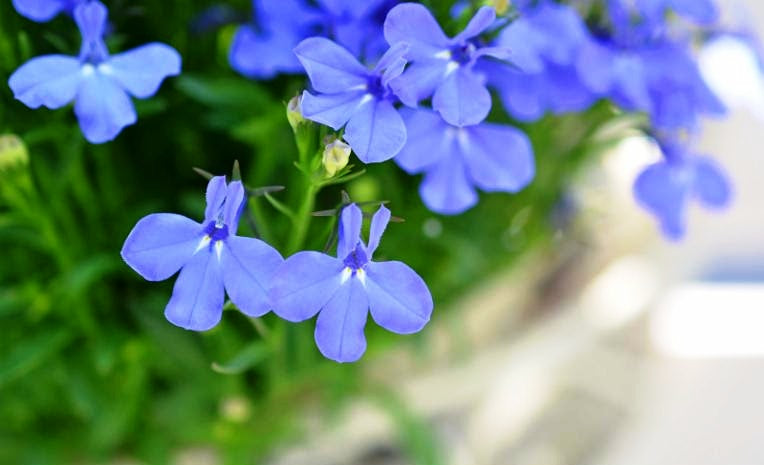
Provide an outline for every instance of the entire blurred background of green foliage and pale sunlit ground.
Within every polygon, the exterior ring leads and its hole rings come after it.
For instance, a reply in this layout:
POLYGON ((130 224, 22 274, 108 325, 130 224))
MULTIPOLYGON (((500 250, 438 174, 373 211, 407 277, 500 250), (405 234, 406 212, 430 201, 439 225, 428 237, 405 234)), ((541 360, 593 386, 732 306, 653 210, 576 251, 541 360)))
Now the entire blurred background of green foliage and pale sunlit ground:
MULTIPOLYGON (((0 132, 21 136, 0 148, 29 160, 0 184, 0 463, 764 463, 764 80, 738 49, 702 52, 732 111, 705 123, 699 146, 724 163, 735 200, 722 213, 694 208, 681 242, 663 239, 633 199, 633 180, 660 156, 636 133, 561 162, 560 151, 577 153, 576 131, 550 131, 570 121, 525 128, 549 174, 458 218, 412 200, 415 180, 394 166, 370 167, 348 189, 390 198, 422 237, 409 250, 411 230, 392 232, 380 250, 425 277, 437 318, 403 341, 369 329, 363 362, 339 366, 317 354, 310 322, 263 319, 290 348, 276 352, 234 312, 210 333, 174 328, 162 316, 171 283, 149 286, 119 260, 141 216, 199 215, 204 181, 192 166, 226 173, 238 159, 251 185, 291 176, 273 95, 294 95, 302 80, 236 77, 232 30, 184 42, 205 2, 159 3, 123 2, 117 30, 131 33, 110 44, 172 43, 185 72, 139 102, 140 123, 119 143, 87 146, 70 113, 35 113, 0 90, 0 132), (36 194, 9 194, 27 184, 36 194)), ((761 2, 720 4, 764 31, 761 2)), ((76 49, 67 21, 50 32, 0 6, 0 31, 13 31, 0 32, 3 79, 32 50, 76 49)), ((338 199, 329 190, 322 205, 338 199)))

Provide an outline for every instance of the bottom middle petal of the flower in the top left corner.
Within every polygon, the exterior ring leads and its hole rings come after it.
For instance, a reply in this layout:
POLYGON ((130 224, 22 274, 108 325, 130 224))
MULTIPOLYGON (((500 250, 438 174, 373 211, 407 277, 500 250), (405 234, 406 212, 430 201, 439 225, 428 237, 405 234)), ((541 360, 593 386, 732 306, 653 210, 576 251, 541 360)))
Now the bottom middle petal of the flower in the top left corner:
POLYGON ((85 138, 94 144, 107 142, 137 120, 127 93, 111 78, 92 72, 82 78, 74 113, 85 138))

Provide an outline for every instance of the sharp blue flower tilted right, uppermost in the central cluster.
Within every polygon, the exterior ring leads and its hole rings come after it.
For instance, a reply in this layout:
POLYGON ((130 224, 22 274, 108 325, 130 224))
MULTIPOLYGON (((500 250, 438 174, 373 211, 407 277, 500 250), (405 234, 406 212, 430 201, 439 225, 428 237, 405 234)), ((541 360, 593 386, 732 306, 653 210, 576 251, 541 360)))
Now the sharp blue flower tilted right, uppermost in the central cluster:
POLYGON ((395 94, 411 107, 432 96, 432 107, 456 126, 483 121, 491 110, 491 94, 475 64, 484 57, 509 57, 507 48, 485 47, 478 40, 495 19, 493 8, 480 8, 464 31, 449 38, 422 5, 404 3, 390 10, 385 38, 391 45, 407 43, 406 57, 411 62, 392 83, 395 94))

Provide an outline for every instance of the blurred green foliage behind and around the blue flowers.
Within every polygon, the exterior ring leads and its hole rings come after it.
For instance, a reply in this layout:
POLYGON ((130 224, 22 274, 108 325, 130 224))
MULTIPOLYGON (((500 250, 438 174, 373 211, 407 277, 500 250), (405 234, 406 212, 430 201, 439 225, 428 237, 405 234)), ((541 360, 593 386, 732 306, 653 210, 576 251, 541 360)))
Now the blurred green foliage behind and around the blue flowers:
MULTIPOLYGON (((227 3, 249 14, 248 1, 227 3)), ((433 3, 444 18, 448 2, 433 3)), ((62 15, 36 24, 10 2, 0 4, 0 463, 127 456, 161 464, 199 444, 215 447, 227 463, 259 463, 274 446, 300 437, 293 420, 304 406, 319 405, 330 419, 350 395, 387 399, 362 375, 379 353, 401 345, 423 357, 428 351, 426 329, 401 337, 368 325, 364 359, 338 365, 315 348, 312 321, 253 321, 236 311, 212 331, 187 332, 163 317, 173 280, 145 282, 121 261, 122 242, 144 215, 203 216, 205 181, 192 167, 229 174, 239 160, 247 185, 283 185, 275 198, 292 207, 300 201, 299 189, 290 189, 301 174, 284 102, 304 79, 236 75, 227 62, 235 26, 200 34, 189 27, 211 5, 108 2, 112 52, 164 42, 181 53, 183 74, 155 97, 135 101, 138 123, 114 142, 90 145, 71 108, 30 110, 5 84, 34 56, 76 54, 73 22, 62 15)), ((483 277, 553 244, 575 213, 566 185, 597 153, 602 141, 594 136, 614 116, 603 103, 523 126, 536 151, 534 183, 515 196, 483 194, 458 217, 428 212, 419 179, 392 162, 324 190, 316 208, 336 206, 343 188, 356 201, 389 200, 406 221, 388 228, 380 259, 405 261, 424 277, 437 319, 483 277)), ((262 198, 250 208, 263 237, 284 252, 290 223, 262 198)), ((315 218, 307 248, 322 249, 332 226, 315 218)), ((242 222, 240 234, 250 234, 246 228, 242 222)), ((417 425, 395 401, 382 403, 402 428, 417 425)), ((402 436, 415 460, 435 460, 436 453, 416 452, 426 437, 402 436)))

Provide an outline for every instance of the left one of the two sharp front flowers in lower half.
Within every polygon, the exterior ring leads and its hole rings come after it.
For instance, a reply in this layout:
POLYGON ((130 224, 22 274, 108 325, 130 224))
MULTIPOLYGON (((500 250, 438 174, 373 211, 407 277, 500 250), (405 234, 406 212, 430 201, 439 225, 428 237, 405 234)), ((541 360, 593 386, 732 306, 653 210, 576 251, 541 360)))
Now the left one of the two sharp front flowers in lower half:
POLYGON ((258 239, 236 236, 245 204, 240 181, 217 176, 207 185, 204 223, 156 213, 138 221, 122 247, 122 258, 149 281, 180 270, 165 316, 174 325, 206 331, 220 321, 225 292, 245 314, 270 309, 266 289, 282 263, 279 253, 258 239))

